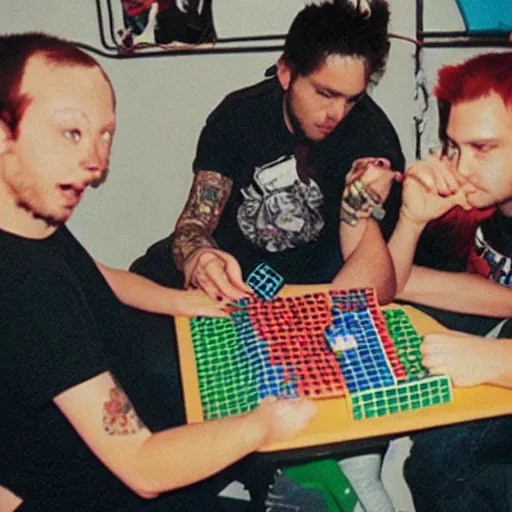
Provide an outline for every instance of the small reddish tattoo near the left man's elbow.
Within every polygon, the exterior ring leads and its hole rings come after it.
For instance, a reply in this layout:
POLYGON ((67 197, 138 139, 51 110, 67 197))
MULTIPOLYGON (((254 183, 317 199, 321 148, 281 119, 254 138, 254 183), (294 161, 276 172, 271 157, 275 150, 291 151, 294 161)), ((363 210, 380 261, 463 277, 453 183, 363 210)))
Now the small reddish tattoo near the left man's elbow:
POLYGON ((111 436, 136 434, 145 428, 117 382, 110 390, 109 400, 103 404, 103 428, 111 436))

